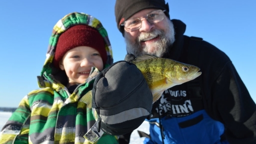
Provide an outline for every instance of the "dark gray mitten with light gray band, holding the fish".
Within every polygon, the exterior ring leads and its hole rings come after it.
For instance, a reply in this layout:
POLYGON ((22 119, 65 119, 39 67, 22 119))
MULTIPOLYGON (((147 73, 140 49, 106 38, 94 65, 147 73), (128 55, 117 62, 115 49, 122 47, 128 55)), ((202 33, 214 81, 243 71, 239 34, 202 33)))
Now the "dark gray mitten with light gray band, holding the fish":
POLYGON ((100 72, 92 95, 98 125, 111 135, 137 129, 151 114, 151 90, 137 66, 127 61, 113 63, 100 72))

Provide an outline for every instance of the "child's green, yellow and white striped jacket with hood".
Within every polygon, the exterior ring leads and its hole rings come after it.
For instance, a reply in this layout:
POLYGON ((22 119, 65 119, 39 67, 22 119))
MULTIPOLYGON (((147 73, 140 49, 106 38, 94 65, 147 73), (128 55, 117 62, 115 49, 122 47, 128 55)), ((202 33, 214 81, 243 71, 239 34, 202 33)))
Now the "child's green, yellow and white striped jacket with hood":
MULTIPOLYGON (((95 119, 92 109, 79 99, 92 89, 94 77, 89 76, 84 84, 80 84, 70 94, 64 84, 67 76, 52 64, 58 37, 70 26, 79 24, 92 26, 99 31, 105 40, 108 55, 105 67, 113 63, 108 34, 100 21, 88 14, 67 14, 53 28, 47 58, 38 76, 40 89, 29 92, 22 99, 1 130, 0 144, 89 144, 83 136, 95 119)), ((95 71, 99 73, 97 69, 95 71)), ((97 143, 118 142, 116 136, 104 134, 97 143)))

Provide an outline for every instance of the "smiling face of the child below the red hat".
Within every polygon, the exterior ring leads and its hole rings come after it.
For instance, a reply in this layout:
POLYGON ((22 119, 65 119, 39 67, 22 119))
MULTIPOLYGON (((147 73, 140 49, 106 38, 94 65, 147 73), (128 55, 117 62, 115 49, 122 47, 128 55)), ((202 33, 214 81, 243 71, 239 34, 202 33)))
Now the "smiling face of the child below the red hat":
POLYGON ((59 67, 65 70, 69 86, 72 86, 84 83, 89 77, 92 67, 102 71, 103 61, 96 49, 89 46, 78 46, 66 52, 59 67))

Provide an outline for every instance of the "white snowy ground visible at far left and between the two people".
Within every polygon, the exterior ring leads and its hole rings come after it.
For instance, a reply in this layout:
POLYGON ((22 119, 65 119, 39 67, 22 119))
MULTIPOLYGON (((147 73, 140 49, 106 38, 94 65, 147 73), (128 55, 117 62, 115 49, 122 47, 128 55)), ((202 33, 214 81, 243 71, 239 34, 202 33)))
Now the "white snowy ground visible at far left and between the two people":
MULTIPOLYGON (((12 112, 0 112, 0 130, 2 130, 3 125, 6 123, 6 121, 9 119, 11 115, 12 112)), ((140 127, 134 130, 131 133, 130 144, 143 144, 144 138, 140 138, 137 130, 149 133, 148 126, 148 122, 144 121, 143 124, 140 125, 140 127)))

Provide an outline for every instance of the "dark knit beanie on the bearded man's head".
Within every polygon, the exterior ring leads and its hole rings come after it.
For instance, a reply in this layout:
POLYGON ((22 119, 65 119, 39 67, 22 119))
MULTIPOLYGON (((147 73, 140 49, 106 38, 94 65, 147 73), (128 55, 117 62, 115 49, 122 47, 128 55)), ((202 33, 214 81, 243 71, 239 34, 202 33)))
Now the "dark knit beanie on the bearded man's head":
POLYGON ((165 3, 165 0, 116 0, 116 24, 122 34, 124 33, 124 27, 121 24, 143 9, 166 10, 165 14, 170 18, 169 5, 165 3))

